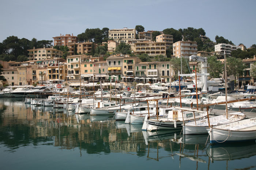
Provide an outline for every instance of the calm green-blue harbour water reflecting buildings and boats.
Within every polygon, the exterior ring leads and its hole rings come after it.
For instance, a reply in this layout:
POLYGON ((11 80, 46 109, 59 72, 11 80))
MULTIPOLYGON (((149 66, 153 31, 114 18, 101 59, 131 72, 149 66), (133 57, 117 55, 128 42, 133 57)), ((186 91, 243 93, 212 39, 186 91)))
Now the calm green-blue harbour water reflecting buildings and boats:
POLYGON ((0 166, 11 169, 256 169, 256 144, 141 131, 112 116, 75 115, 0 99, 0 166))

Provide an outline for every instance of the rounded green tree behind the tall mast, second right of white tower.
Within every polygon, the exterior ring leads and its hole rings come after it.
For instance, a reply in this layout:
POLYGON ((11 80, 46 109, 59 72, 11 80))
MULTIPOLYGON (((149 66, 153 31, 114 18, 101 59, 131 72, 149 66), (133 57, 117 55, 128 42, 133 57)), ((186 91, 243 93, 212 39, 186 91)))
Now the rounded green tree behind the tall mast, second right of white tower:
POLYGON ((243 75, 246 66, 242 63, 241 59, 228 57, 226 63, 227 75, 234 75, 235 77, 243 75))

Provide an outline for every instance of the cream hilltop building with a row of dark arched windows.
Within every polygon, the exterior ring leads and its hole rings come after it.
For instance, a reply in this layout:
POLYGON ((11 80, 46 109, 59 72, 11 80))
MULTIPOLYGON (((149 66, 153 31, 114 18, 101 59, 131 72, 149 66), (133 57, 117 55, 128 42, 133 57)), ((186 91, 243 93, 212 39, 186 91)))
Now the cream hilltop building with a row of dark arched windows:
POLYGON ((128 40, 132 40, 136 38, 136 30, 135 28, 110 29, 109 39, 111 38, 114 39, 114 41, 116 41, 117 43, 120 43, 120 42, 128 43, 128 40))

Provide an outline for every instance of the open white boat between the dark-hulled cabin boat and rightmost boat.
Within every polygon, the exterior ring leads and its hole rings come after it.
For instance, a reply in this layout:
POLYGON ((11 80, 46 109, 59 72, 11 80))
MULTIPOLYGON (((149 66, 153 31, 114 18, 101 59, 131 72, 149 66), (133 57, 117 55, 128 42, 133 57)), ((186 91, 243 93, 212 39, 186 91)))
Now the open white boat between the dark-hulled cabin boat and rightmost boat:
MULTIPOLYGON (((239 120, 242 120, 245 118, 245 114, 241 112, 234 112, 228 114, 228 118, 226 118, 226 115, 219 115, 219 116, 213 116, 210 117, 210 124, 212 126, 217 126, 220 124, 227 124, 231 122, 236 122, 239 120)), ((188 123, 185 123, 183 126, 183 135, 190 135, 190 134, 207 134, 206 128, 208 126, 208 119, 200 119, 195 121, 191 121, 188 123)))

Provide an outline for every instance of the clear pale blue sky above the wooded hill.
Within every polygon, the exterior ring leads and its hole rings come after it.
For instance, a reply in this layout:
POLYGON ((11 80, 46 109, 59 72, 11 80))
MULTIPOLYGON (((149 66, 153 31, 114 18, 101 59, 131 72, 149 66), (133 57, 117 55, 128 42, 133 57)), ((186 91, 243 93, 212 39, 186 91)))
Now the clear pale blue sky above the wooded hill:
POLYGON ((2 0, 0 42, 8 36, 53 40, 86 28, 203 28, 246 47, 256 44, 255 0, 2 0))

